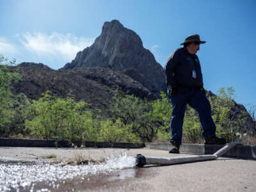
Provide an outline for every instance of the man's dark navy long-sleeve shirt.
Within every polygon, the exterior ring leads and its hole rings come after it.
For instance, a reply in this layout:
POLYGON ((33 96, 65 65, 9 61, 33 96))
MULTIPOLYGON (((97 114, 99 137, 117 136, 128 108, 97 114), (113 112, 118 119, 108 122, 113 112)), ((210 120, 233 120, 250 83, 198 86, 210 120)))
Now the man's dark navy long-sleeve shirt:
POLYGON ((172 52, 164 66, 166 84, 186 88, 200 88, 204 86, 200 61, 196 54, 190 54, 186 47, 172 52), (196 77, 193 77, 193 70, 196 77))

